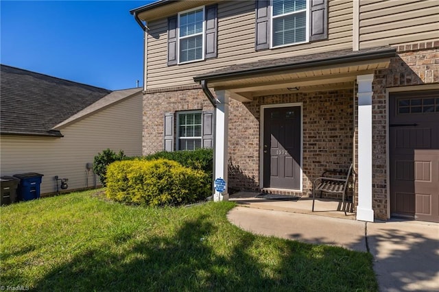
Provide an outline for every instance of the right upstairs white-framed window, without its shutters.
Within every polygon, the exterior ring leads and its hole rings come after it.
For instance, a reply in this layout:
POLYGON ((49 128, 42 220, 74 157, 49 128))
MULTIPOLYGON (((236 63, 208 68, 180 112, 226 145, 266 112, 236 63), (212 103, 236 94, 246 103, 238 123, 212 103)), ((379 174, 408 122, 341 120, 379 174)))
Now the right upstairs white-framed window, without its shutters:
POLYGON ((272 0, 272 47, 308 42, 307 0, 272 0))

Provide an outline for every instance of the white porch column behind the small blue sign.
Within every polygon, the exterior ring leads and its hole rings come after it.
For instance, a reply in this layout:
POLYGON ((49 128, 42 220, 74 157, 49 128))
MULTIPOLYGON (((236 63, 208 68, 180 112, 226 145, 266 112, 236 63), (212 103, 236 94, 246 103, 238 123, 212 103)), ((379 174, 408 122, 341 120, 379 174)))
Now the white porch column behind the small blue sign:
POLYGON ((215 179, 222 178, 226 181, 226 191, 218 193, 215 190, 213 201, 228 201, 228 93, 225 90, 215 91, 217 107, 215 108, 215 179))

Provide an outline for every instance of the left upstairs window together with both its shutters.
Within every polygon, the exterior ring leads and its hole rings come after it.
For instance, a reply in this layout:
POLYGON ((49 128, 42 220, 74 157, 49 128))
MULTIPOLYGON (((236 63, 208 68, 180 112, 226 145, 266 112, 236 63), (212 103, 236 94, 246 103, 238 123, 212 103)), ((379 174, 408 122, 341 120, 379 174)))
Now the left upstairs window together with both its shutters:
POLYGON ((168 18, 167 64, 217 56, 217 4, 180 12, 168 18))

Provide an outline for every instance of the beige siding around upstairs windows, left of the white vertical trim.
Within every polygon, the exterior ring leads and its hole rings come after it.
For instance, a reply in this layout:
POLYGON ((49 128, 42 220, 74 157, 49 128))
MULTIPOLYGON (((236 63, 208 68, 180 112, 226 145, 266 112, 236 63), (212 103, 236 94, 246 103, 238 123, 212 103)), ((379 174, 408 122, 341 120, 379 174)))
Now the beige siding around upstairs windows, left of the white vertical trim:
POLYGON ((352 47, 351 0, 329 1, 329 39, 255 51, 254 1, 218 3, 218 56, 167 66, 167 19, 148 23, 147 89, 193 85, 193 77, 225 66, 352 47), (170 77, 171 76, 171 77, 170 77))

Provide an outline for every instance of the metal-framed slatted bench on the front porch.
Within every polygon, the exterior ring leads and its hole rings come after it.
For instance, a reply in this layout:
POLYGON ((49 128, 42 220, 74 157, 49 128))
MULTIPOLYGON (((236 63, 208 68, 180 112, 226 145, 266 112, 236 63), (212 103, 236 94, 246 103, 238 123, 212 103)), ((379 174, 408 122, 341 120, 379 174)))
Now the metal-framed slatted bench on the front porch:
MULTIPOLYGON (((344 215, 346 215, 346 191, 349 186, 349 178, 353 175, 353 165, 349 167, 347 173, 346 171, 340 170, 327 170, 322 173, 320 178, 316 178, 313 181, 313 206, 312 212, 314 212, 314 202, 316 200, 316 193, 320 192, 320 198, 322 197, 322 193, 330 193, 330 194, 339 194, 342 195, 342 207, 344 210, 344 215)), ((355 178, 354 178, 355 180, 355 178)))

